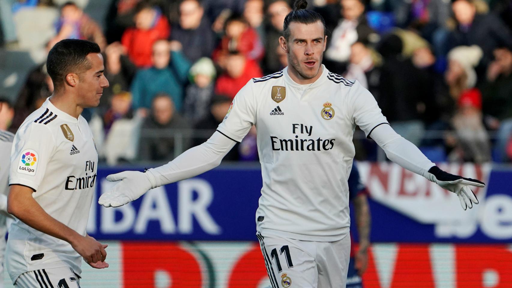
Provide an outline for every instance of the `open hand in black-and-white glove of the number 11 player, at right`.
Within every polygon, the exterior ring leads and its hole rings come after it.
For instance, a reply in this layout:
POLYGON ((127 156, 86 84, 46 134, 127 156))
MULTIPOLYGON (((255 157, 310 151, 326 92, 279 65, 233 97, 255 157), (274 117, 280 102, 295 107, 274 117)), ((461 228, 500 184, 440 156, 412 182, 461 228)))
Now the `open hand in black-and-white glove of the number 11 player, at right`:
POLYGON ((471 186, 485 187, 485 184, 481 181, 447 173, 437 166, 433 166, 429 169, 426 178, 437 183, 442 188, 457 194, 457 196, 459 196, 460 205, 464 210, 466 210, 467 207, 470 209, 473 208, 473 203, 478 204, 477 196, 473 193, 473 190, 471 190, 471 186))

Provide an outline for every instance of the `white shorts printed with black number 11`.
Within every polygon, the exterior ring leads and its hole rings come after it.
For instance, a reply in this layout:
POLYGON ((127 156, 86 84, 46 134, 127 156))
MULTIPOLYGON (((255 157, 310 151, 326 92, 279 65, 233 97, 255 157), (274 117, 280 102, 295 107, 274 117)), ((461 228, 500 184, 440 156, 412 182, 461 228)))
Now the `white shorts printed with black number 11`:
POLYGON ((319 242, 256 235, 272 288, 345 288, 350 236, 319 242))

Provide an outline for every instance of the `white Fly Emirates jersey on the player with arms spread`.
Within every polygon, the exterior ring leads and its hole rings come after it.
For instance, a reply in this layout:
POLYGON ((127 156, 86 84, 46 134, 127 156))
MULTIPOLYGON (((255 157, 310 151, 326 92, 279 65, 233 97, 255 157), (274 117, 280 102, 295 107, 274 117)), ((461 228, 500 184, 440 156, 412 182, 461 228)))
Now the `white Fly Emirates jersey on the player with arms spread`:
POLYGON ((257 230, 311 241, 342 239, 350 226, 348 176, 358 125, 388 123, 357 81, 330 73, 297 84, 288 69, 251 79, 218 131, 240 142, 257 127, 263 187, 257 230))

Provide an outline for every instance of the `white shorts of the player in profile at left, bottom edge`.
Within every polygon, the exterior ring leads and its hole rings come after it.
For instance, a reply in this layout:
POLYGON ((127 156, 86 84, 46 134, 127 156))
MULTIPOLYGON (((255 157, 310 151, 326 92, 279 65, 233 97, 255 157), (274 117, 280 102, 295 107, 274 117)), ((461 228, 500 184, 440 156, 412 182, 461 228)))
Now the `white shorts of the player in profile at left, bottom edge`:
POLYGON ((41 269, 19 275, 16 288, 80 288, 80 278, 69 267, 41 269))

